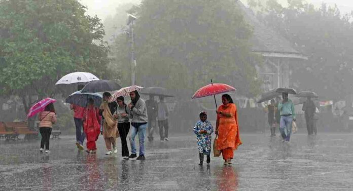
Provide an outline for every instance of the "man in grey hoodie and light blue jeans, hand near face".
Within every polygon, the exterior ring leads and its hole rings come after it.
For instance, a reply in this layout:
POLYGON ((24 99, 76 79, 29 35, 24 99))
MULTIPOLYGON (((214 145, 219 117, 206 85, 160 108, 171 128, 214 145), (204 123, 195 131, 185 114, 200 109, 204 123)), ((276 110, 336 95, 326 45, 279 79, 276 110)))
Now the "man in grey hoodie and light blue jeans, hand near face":
POLYGON ((135 137, 138 134, 139 156, 136 160, 145 160, 145 135, 147 128, 147 107, 143 99, 140 98, 137 91, 130 93, 131 103, 128 105, 131 112, 131 133, 129 136, 131 144, 130 159, 136 158, 135 137))

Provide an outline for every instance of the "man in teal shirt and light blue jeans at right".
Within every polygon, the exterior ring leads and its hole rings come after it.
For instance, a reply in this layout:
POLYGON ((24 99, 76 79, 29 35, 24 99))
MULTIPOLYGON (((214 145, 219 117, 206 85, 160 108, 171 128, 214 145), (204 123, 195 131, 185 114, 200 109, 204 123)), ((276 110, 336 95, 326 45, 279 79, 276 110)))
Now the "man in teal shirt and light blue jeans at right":
POLYGON ((292 122, 296 121, 296 113, 292 100, 288 99, 288 93, 282 94, 283 100, 278 104, 280 112, 279 131, 284 142, 289 142, 292 133, 292 122))

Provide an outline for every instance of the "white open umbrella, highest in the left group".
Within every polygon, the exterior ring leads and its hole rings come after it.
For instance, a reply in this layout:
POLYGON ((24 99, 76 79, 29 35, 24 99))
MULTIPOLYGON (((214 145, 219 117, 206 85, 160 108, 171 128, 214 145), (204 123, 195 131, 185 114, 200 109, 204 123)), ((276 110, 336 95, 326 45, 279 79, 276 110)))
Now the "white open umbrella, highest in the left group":
POLYGON ((64 75, 59 81, 55 83, 55 85, 85 83, 97 80, 99 79, 92 73, 77 71, 64 75))

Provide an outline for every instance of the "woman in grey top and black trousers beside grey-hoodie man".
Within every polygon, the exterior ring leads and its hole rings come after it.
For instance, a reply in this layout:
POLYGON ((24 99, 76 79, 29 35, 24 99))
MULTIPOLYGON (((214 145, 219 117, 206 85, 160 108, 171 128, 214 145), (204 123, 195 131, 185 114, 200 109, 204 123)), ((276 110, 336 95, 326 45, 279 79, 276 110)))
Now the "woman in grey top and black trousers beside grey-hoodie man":
POLYGON ((129 149, 127 148, 126 137, 130 131, 129 114, 130 108, 125 104, 124 97, 117 98, 118 107, 114 113, 114 118, 118 119, 118 131, 121 139, 121 156, 129 159, 129 149))

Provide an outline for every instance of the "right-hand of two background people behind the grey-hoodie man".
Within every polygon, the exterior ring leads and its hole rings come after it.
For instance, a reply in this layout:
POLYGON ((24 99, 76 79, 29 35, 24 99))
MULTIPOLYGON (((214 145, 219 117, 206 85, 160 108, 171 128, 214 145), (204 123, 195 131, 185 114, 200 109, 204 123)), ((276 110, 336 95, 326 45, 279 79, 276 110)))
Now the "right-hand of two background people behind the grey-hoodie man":
POLYGON ((168 107, 167 104, 164 102, 164 97, 160 96, 159 97, 159 102, 158 102, 158 127, 159 127, 159 136, 161 141, 169 141, 168 139, 168 130, 169 130, 169 125, 168 125, 168 107), (164 131, 163 131, 164 130, 164 131))

